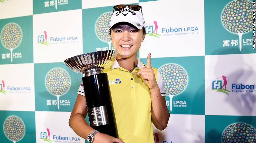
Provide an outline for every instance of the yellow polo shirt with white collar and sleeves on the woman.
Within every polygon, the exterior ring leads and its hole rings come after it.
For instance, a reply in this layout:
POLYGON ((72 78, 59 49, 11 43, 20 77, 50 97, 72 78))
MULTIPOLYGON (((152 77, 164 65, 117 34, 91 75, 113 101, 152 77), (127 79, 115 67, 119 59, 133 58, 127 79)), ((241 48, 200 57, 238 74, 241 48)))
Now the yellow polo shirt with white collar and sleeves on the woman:
MULTIPOLYGON (((137 61, 138 66, 131 73, 120 67, 117 60, 104 72, 108 74, 118 137, 125 143, 154 143, 150 90, 137 75, 146 66, 137 61)), ((157 69, 153 70, 164 96, 161 75, 157 69)), ((84 95, 82 85, 77 93, 84 95)))

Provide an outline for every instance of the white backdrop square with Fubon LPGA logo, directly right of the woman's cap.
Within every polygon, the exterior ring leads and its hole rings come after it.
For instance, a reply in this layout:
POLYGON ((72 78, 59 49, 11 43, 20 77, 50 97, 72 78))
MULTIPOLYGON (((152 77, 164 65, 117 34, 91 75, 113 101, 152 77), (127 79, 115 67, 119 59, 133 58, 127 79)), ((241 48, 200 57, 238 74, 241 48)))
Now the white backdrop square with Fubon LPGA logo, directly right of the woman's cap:
POLYGON ((147 34, 142 42, 140 58, 147 58, 148 53, 152 53, 151 57, 204 55, 203 0, 161 0, 139 4, 147 33, 155 31, 154 36, 147 34), (159 35, 155 35, 156 32, 159 35))

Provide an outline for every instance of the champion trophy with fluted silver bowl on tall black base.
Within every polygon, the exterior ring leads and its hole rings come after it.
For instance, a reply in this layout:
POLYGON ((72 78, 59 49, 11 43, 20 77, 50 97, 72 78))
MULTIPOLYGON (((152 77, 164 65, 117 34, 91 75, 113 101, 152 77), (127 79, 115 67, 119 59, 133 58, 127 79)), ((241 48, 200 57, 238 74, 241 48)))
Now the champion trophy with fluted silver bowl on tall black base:
POLYGON ((90 125, 101 133, 117 137, 107 73, 117 57, 117 51, 97 51, 68 58, 64 61, 82 77, 90 125))

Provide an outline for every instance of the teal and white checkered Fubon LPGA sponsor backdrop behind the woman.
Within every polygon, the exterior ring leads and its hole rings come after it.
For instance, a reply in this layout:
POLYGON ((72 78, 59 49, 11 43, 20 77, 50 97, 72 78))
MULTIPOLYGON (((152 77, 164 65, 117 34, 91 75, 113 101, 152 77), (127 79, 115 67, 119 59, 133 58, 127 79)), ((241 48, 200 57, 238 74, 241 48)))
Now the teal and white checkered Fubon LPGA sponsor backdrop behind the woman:
MULTIPOLYGON (((255 143, 255 2, 121 3, 142 6, 138 58, 151 53, 164 82, 170 119, 153 128, 155 143, 255 143)), ((0 142, 87 142, 68 125, 82 75, 63 60, 114 49, 107 28, 118 4, 0 0, 0 142)))

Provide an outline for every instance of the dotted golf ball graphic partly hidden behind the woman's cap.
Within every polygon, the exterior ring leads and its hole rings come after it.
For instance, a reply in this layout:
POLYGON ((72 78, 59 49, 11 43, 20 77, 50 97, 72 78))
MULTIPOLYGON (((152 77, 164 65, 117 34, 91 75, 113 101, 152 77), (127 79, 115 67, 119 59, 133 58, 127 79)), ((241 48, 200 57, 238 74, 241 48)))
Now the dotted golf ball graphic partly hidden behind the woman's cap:
POLYGON ((108 27, 110 24, 110 19, 112 12, 107 12, 102 14, 95 25, 96 35, 98 38, 105 42, 111 42, 111 37, 109 35, 108 27))

